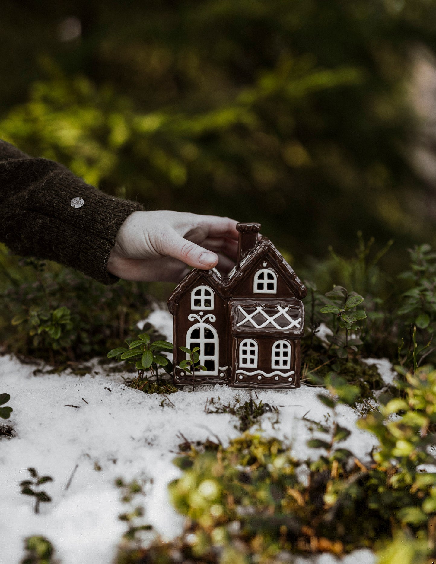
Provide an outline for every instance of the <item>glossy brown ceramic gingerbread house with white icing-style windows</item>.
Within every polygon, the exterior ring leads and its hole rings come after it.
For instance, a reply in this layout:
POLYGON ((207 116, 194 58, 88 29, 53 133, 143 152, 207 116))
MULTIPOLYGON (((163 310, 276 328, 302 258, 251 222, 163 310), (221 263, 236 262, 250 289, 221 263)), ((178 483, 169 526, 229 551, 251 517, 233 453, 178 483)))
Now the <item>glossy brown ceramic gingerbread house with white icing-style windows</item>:
POLYGON ((174 316, 174 382, 192 384, 179 349, 199 347, 196 384, 300 387, 301 302, 307 290, 259 223, 238 223, 235 268, 228 276, 192 270, 168 300, 174 316))

